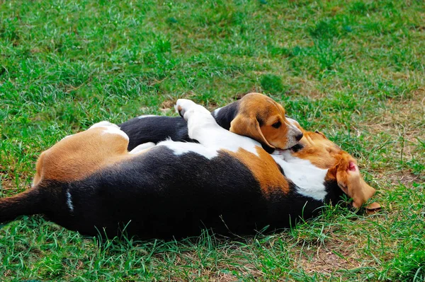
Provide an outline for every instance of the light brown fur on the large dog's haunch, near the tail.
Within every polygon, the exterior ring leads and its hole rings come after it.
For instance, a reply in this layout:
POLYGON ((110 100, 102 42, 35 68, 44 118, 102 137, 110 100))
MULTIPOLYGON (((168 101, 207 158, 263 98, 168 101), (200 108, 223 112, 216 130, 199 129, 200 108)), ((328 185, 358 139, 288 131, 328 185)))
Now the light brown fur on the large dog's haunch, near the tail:
POLYGON ((134 155, 128 154, 128 140, 119 134, 104 134, 96 127, 69 136, 44 151, 37 163, 34 184, 42 180, 81 180, 134 155))

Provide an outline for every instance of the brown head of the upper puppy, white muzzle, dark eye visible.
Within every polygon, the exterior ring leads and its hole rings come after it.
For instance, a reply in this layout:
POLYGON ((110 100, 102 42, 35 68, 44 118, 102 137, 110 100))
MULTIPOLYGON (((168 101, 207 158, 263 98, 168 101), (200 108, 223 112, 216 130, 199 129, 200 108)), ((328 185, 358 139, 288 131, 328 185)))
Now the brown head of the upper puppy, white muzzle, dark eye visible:
POLYGON ((249 93, 239 100, 239 109, 229 130, 259 141, 266 151, 290 148, 302 138, 293 120, 285 117, 285 109, 260 93, 249 93))

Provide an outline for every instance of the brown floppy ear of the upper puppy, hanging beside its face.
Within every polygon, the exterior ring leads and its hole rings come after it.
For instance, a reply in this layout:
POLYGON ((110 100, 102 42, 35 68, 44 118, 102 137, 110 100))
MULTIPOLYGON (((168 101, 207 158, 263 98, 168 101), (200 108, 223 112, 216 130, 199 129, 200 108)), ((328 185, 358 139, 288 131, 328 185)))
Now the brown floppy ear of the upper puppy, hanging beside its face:
POLYGON ((276 148, 275 146, 272 146, 270 143, 268 143, 264 137, 260 129, 259 121, 256 119, 256 117, 249 117, 245 114, 238 114, 237 117, 235 117, 230 123, 229 130, 235 134, 251 137, 252 139, 259 141, 260 143, 270 148, 276 148))

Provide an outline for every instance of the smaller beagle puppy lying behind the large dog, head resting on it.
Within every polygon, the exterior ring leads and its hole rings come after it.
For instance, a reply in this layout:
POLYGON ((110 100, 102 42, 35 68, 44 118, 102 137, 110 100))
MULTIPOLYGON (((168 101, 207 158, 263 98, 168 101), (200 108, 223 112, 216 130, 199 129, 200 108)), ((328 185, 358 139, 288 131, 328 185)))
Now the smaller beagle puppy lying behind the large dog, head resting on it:
MULTIPOLYGON (((220 125, 239 135, 258 141, 268 153, 275 148, 295 146, 302 138, 302 131, 285 117, 285 109, 270 97, 261 93, 249 93, 240 100, 218 108, 212 116, 220 125)), ((146 143, 164 141, 193 141, 188 138, 187 124, 179 117, 140 116, 120 124, 120 129, 131 136, 128 149, 146 143)))

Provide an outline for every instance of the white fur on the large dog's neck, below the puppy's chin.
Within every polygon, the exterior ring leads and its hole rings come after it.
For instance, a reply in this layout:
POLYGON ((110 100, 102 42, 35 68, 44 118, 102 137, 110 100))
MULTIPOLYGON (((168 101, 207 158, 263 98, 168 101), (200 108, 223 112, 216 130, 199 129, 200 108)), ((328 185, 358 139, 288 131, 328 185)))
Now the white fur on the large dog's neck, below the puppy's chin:
MULTIPOLYGON (((285 177, 290 179, 297 185, 297 192, 303 196, 324 201, 326 196, 326 188, 324 187, 324 178, 328 170, 317 168, 310 160, 302 160, 295 158, 292 155, 285 158, 288 151, 283 154, 272 154, 271 156, 276 160, 285 173, 285 177), (285 158, 285 160, 283 160, 285 158), (288 158, 288 160, 287 160, 288 158)), ((290 155, 290 153, 288 152, 290 155)))

